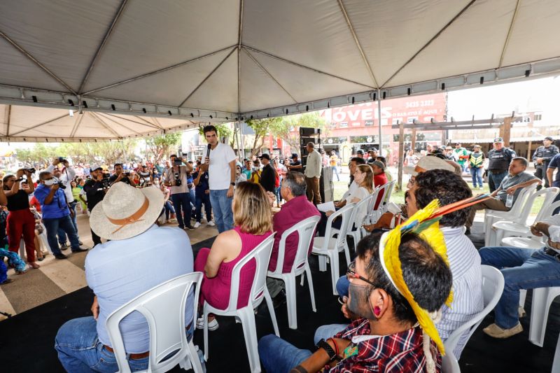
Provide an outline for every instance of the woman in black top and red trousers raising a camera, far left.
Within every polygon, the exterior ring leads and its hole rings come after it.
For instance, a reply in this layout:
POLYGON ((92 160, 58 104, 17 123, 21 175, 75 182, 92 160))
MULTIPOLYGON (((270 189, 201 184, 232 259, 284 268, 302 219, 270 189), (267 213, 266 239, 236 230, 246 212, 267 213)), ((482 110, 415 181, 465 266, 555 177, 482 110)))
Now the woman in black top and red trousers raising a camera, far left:
POLYGON ((18 169, 13 175, 6 175, 3 178, 3 191, 5 192, 6 201, 0 199, 0 203, 6 202, 8 206, 8 218, 6 218, 6 232, 8 234, 8 250, 13 253, 20 251, 20 239, 25 241, 25 252, 27 253, 27 262, 29 267, 38 268, 35 262, 35 218, 29 211, 29 195, 34 192, 33 181, 31 180, 31 171, 33 169, 18 169), (29 188, 23 190, 20 183, 24 180, 25 175, 29 188))

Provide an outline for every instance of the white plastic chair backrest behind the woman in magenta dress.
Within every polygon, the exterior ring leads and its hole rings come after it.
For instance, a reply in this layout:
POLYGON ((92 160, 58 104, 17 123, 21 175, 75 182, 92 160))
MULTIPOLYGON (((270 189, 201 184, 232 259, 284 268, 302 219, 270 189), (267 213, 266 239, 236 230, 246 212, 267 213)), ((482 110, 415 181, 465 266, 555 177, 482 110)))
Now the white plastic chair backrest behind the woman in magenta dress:
POLYGON ((232 285, 230 290, 230 304, 226 311, 237 310, 237 297, 239 295, 239 281, 241 279, 241 269, 250 260, 256 261, 255 277, 253 279, 253 285, 251 285, 251 293, 249 293, 249 305, 258 304, 265 295, 265 286, 267 279, 268 262, 270 260, 270 254, 272 253, 272 245, 274 244, 274 235, 276 232, 272 232, 269 237, 265 238, 257 247, 253 248, 251 253, 245 255, 245 258, 239 260, 237 264, 232 269, 232 285))

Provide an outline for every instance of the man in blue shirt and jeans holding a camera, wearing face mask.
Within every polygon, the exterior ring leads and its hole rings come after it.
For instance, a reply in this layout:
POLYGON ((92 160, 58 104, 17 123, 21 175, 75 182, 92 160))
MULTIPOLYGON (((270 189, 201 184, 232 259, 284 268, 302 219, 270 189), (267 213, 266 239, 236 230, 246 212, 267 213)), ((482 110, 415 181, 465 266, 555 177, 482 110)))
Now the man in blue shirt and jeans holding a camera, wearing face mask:
MULTIPOLYGON (((78 234, 72 224, 70 216, 73 214, 66 202, 66 195, 60 189, 57 179, 52 176, 49 171, 43 171, 39 174, 40 185, 35 190, 35 197, 41 203, 41 211, 43 211, 43 224, 47 229, 47 241, 50 250, 57 259, 66 259, 60 248, 58 247, 57 233, 59 228, 68 235, 72 253, 81 253, 87 251, 80 248, 78 234)), ((29 185, 31 188, 31 185, 29 185)), ((35 223, 35 222, 34 222, 35 223)), ((29 255, 29 254, 28 254, 29 255)))

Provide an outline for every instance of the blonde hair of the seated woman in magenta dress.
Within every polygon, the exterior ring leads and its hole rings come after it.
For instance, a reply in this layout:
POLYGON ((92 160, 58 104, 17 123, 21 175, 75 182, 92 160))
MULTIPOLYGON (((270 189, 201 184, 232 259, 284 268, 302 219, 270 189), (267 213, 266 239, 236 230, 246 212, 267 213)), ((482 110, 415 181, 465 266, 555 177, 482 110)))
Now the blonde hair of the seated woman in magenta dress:
POLYGON ((265 234, 272 230, 272 212, 265 189, 257 183, 242 181, 235 187, 233 223, 242 232, 265 234))

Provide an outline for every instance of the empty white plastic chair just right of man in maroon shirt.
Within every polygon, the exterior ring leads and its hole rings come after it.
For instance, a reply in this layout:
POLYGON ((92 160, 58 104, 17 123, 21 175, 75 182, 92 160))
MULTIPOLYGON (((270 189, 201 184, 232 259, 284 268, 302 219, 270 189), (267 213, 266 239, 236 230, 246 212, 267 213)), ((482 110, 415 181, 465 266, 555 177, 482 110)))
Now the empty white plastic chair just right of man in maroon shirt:
POLYGON ((356 204, 346 204, 346 206, 336 211, 327 220, 327 228, 324 237, 315 237, 313 241, 313 250, 311 253, 319 255, 319 271, 327 270, 327 259, 330 262, 330 278, 332 280, 332 294, 337 293, 337 280, 339 278, 340 267, 338 263, 338 253, 344 251, 346 255, 346 265, 350 265, 350 253, 348 244, 346 243, 346 232, 350 225, 350 216, 356 204), (332 221, 338 216, 342 217, 342 224, 339 230, 332 230, 332 221), (333 237, 337 234, 337 237, 333 237))

